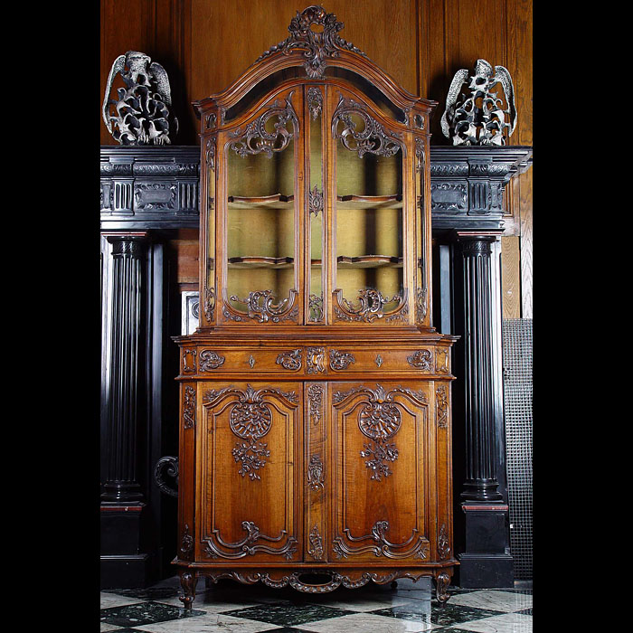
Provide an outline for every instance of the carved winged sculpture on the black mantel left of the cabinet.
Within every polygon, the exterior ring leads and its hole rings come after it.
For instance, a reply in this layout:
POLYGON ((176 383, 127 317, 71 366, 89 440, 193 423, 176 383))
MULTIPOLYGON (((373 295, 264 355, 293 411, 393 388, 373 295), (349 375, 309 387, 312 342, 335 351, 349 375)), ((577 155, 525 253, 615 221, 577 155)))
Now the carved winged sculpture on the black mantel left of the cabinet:
POLYGON ((170 144, 170 134, 175 137, 178 131, 178 119, 169 111, 171 106, 169 80, 160 64, 143 52, 128 51, 118 56, 109 72, 102 115, 110 134, 121 145, 170 144), (117 73, 126 88, 117 90, 118 99, 110 99, 117 73), (116 114, 112 114, 111 107, 116 114))

